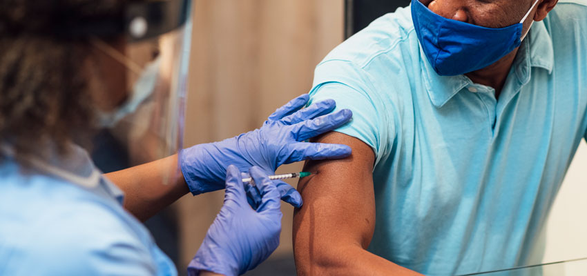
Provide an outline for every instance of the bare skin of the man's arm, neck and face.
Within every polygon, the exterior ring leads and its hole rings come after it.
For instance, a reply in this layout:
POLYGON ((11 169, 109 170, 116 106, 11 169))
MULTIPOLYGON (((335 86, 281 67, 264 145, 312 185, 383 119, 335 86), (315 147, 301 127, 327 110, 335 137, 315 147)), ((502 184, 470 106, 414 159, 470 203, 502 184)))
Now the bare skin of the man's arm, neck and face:
MULTIPOLYGON (((534 0, 435 0, 424 1, 430 10, 456 20, 499 28, 518 23, 534 0), (515 16, 512 16, 514 14, 515 16)), ((541 21, 557 0, 541 0, 524 23, 541 21)), ((517 49, 496 63, 467 74, 472 81, 501 91, 517 49)), ((308 161, 305 171, 318 175, 300 180, 304 206, 294 213, 294 255, 298 275, 419 275, 369 253, 375 227, 373 150, 359 139, 329 132, 313 140, 346 144, 347 159, 308 161)))

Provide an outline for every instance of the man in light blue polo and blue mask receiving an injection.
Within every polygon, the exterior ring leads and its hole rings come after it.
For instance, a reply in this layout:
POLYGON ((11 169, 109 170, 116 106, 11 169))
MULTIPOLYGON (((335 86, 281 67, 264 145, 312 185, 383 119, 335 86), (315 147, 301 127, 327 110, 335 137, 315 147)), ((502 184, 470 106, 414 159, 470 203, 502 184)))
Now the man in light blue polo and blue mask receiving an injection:
POLYGON ((298 273, 459 275, 540 255, 587 130, 587 1, 558 2, 414 0, 318 65, 312 100, 354 117, 317 141, 353 155, 305 168, 319 174, 298 187, 298 273))

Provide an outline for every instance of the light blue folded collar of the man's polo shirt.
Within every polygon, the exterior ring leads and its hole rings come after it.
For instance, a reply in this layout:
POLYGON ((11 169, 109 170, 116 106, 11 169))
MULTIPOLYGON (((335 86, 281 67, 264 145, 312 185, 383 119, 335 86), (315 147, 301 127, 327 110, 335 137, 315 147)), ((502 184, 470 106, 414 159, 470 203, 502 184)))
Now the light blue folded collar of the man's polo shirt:
MULTIPOLYGON (((425 87, 434 106, 444 106, 456 93, 474 84, 465 75, 438 75, 426 58, 422 46, 420 46, 420 57, 422 75, 425 76, 425 87)), ((548 34, 548 30, 546 30, 546 26, 542 21, 535 22, 530 29, 530 34, 524 39, 512 65, 514 66, 516 77, 522 83, 528 83, 530 80, 530 70, 528 69, 530 67, 546 69, 550 74, 554 63, 555 55, 550 34, 548 34), (528 43, 530 47, 528 47, 528 43)))

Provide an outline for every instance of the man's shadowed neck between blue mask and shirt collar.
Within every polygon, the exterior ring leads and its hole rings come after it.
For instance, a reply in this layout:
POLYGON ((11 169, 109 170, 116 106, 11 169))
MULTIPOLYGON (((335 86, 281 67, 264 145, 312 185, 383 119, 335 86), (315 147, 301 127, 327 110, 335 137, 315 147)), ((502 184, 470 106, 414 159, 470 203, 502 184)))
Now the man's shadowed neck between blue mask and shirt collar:
POLYGON ((512 68, 514 59, 516 59, 518 49, 519 48, 514 49, 508 55, 502 57, 492 65, 467 73, 465 76, 469 77, 474 83, 494 88, 495 98, 497 99, 501 94, 503 86, 506 84, 506 79, 508 79, 510 68, 512 68))

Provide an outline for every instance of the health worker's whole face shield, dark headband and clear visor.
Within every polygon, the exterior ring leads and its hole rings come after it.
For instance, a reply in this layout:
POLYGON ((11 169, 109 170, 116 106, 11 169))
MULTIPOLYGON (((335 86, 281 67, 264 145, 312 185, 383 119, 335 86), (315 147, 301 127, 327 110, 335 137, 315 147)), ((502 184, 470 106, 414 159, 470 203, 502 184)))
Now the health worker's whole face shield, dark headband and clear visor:
MULTIPOLYGON (((131 1, 122 43, 90 38, 90 44, 113 61, 106 66, 110 78, 102 79, 125 95, 112 110, 97 110, 97 124, 107 128, 117 144, 97 150, 122 148, 127 167, 169 157, 182 148, 189 10, 189 0, 131 1)), ((107 89, 104 97, 112 93, 107 89)), ((104 152, 100 155, 108 158, 104 152)))

